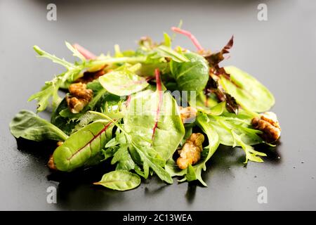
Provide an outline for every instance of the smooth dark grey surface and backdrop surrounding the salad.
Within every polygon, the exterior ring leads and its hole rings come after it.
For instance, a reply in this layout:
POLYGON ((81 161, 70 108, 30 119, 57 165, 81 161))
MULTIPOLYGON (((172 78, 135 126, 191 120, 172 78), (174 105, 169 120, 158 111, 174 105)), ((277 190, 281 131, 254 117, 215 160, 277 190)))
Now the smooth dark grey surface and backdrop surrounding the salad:
MULTIPOLYGON (((315 1, 0 1, 0 210, 316 210, 315 1), (46 20, 55 2, 57 21, 46 20), (259 3, 268 21, 257 19, 259 3), (8 131, 15 113, 36 103, 27 98, 63 69, 35 57, 32 46, 74 60, 64 41, 94 53, 136 47, 143 35, 162 32, 183 20, 206 49, 219 50, 232 34, 235 45, 225 65, 236 65, 275 94, 281 143, 265 150, 262 164, 244 167, 242 150, 219 148, 204 180, 166 185, 156 177, 133 191, 91 185, 105 167, 50 175, 49 143, 20 143, 8 131), (279 158, 278 158, 279 157, 279 158), (60 182, 59 182, 60 181, 60 182), (58 204, 46 203, 46 188, 58 188, 58 204), (258 204, 257 189, 268 189, 258 204)), ((193 49, 178 35, 174 45, 193 49)), ((41 114, 48 118, 48 114, 41 114)))

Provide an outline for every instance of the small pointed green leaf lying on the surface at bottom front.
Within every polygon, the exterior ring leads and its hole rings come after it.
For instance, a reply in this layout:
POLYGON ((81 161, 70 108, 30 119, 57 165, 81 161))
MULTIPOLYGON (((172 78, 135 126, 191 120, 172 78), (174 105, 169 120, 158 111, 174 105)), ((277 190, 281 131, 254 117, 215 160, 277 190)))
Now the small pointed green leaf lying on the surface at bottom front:
POLYGON ((105 186, 117 191, 126 191, 140 185, 140 177, 126 170, 115 170, 104 174, 99 182, 94 184, 105 186))

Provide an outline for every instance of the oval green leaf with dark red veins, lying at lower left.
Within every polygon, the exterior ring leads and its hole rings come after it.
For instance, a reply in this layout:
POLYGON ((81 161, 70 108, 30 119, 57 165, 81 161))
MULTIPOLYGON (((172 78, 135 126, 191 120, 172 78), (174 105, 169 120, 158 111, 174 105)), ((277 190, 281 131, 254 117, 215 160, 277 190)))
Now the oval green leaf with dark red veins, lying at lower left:
POLYGON ((72 134, 53 153, 57 169, 70 172, 82 167, 89 158, 100 153, 107 141, 110 141, 112 127, 112 122, 97 121, 72 134))

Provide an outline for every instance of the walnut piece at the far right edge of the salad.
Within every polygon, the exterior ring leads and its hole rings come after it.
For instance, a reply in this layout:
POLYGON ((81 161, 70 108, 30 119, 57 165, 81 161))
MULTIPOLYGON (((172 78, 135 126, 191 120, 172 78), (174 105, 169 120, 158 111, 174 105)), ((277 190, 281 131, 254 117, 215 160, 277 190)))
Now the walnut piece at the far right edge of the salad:
POLYGON ((275 113, 261 113, 261 117, 255 117, 251 121, 251 124, 255 129, 263 131, 263 134, 260 134, 260 136, 268 143, 277 141, 281 135, 281 127, 279 127, 279 122, 277 121, 277 115, 275 115, 275 113))

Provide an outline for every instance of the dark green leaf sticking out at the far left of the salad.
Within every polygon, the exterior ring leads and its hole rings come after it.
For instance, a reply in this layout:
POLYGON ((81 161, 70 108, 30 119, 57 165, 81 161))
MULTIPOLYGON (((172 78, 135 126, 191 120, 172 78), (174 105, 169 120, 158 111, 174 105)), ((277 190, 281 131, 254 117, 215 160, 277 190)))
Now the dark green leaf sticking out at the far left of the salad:
POLYGON ((58 127, 29 110, 22 110, 15 115, 9 127, 11 134, 17 139, 22 137, 32 141, 64 141, 68 137, 58 127))

